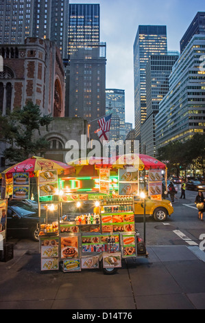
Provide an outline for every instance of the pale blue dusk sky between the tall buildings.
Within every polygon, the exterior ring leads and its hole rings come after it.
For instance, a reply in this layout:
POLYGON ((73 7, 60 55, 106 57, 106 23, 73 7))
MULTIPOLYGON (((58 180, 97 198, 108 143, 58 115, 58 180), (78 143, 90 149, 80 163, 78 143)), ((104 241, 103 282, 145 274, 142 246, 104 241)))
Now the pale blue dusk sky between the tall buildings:
POLYGON ((169 50, 180 40, 204 0, 70 0, 99 3, 100 41, 107 45, 106 89, 125 90, 125 121, 134 126, 133 45, 138 25, 167 25, 169 50))

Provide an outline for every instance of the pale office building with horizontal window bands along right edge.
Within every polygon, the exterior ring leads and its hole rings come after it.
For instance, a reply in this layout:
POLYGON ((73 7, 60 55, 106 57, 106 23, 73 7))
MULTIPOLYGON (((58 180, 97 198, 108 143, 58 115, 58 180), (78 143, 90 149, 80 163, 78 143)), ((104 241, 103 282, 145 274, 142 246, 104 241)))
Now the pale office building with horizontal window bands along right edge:
POLYGON ((169 92, 156 115, 156 146, 188 140, 205 132, 205 35, 194 35, 174 65, 169 92))

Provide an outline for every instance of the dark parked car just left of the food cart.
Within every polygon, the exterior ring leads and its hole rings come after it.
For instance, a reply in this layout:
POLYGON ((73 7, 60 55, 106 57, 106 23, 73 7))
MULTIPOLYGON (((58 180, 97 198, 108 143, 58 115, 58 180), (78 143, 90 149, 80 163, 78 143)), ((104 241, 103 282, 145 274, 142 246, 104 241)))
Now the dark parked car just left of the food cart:
POLYGON ((39 241, 38 210, 8 205, 7 235, 29 236, 34 241, 39 241))

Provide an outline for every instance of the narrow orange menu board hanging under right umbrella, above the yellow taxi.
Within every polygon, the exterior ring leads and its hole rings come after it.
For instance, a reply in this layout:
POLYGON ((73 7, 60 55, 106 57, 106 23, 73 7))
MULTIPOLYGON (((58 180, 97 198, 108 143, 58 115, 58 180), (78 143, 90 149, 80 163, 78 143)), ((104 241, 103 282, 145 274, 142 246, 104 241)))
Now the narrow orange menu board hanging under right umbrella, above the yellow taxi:
POLYGON ((162 199, 162 174, 161 170, 149 170, 149 197, 162 199))

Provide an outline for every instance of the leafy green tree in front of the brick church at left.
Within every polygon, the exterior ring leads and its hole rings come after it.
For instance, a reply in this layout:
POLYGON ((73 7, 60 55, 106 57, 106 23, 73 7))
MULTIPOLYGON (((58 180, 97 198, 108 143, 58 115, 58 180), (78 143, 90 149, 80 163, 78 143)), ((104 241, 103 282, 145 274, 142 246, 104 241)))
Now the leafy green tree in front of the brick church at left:
POLYGON ((16 109, 10 115, 1 115, 0 137, 8 146, 3 151, 3 157, 12 164, 45 152, 48 142, 40 137, 40 126, 46 126, 48 131, 52 119, 51 115, 42 116, 38 105, 31 101, 23 109, 16 109), (34 136, 36 131, 38 138, 34 136))

